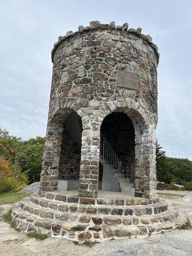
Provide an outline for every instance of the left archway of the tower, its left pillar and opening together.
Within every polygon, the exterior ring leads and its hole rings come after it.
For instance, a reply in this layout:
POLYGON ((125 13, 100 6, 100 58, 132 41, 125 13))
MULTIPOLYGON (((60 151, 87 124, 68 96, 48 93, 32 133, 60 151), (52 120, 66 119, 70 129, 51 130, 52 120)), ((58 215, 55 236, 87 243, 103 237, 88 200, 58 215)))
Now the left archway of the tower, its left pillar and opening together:
POLYGON ((81 118, 73 109, 60 109, 47 125, 40 195, 78 188, 81 164, 81 118), (71 182, 71 180, 73 182, 71 182))

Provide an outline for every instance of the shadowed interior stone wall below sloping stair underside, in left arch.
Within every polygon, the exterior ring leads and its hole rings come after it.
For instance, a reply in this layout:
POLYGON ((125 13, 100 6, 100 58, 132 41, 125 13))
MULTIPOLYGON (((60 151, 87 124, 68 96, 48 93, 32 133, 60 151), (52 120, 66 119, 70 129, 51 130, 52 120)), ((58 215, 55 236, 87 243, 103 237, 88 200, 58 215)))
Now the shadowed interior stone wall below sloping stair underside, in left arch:
POLYGON ((80 164, 81 147, 74 143, 64 125, 58 179, 78 180, 80 164))

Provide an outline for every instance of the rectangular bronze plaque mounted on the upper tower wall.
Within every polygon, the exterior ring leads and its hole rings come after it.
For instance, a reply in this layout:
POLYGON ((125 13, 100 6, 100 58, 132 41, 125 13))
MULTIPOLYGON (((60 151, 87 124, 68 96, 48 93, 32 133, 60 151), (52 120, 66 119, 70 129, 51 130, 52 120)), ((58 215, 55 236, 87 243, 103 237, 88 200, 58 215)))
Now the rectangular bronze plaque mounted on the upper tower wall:
POLYGON ((132 90, 139 90, 140 77, 130 72, 118 71, 117 86, 132 89, 132 90))

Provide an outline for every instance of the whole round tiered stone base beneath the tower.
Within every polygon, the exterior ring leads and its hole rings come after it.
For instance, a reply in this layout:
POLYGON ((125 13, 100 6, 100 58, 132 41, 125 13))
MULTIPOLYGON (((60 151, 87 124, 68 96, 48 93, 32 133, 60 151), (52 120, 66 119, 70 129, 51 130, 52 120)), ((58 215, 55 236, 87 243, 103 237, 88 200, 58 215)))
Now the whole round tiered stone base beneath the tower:
POLYGON ((70 192, 47 192, 44 197, 34 193, 13 207, 12 220, 22 232, 39 232, 79 243, 145 237, 177 227, 177 212, 168 211, 164 201, 122 196, 93 199, 70 192))

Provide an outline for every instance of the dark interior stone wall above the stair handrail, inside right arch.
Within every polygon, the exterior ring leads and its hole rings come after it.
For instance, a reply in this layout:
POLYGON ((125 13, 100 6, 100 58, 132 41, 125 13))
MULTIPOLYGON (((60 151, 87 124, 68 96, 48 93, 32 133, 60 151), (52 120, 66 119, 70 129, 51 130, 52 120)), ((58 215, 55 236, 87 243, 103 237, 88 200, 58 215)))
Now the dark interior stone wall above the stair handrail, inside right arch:
POLYGON ((124 113, 112 113, 104 118, 101 134, 109 141, 124 167, 124 175, 134 181, 134 127, 124 113))

